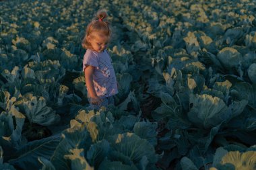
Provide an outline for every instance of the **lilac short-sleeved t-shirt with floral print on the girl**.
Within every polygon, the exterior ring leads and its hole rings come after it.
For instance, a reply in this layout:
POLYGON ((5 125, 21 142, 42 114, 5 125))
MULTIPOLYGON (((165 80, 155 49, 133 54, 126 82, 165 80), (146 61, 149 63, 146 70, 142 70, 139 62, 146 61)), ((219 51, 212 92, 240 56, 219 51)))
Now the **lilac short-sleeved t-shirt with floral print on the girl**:
POLYGON ((109 97, 118 93, 115 70, 106 50, 96 52, 87 49, 84 54, 83 71, 86 69, 86 65, 94 67, 92 79, 98 97, 109 97))

